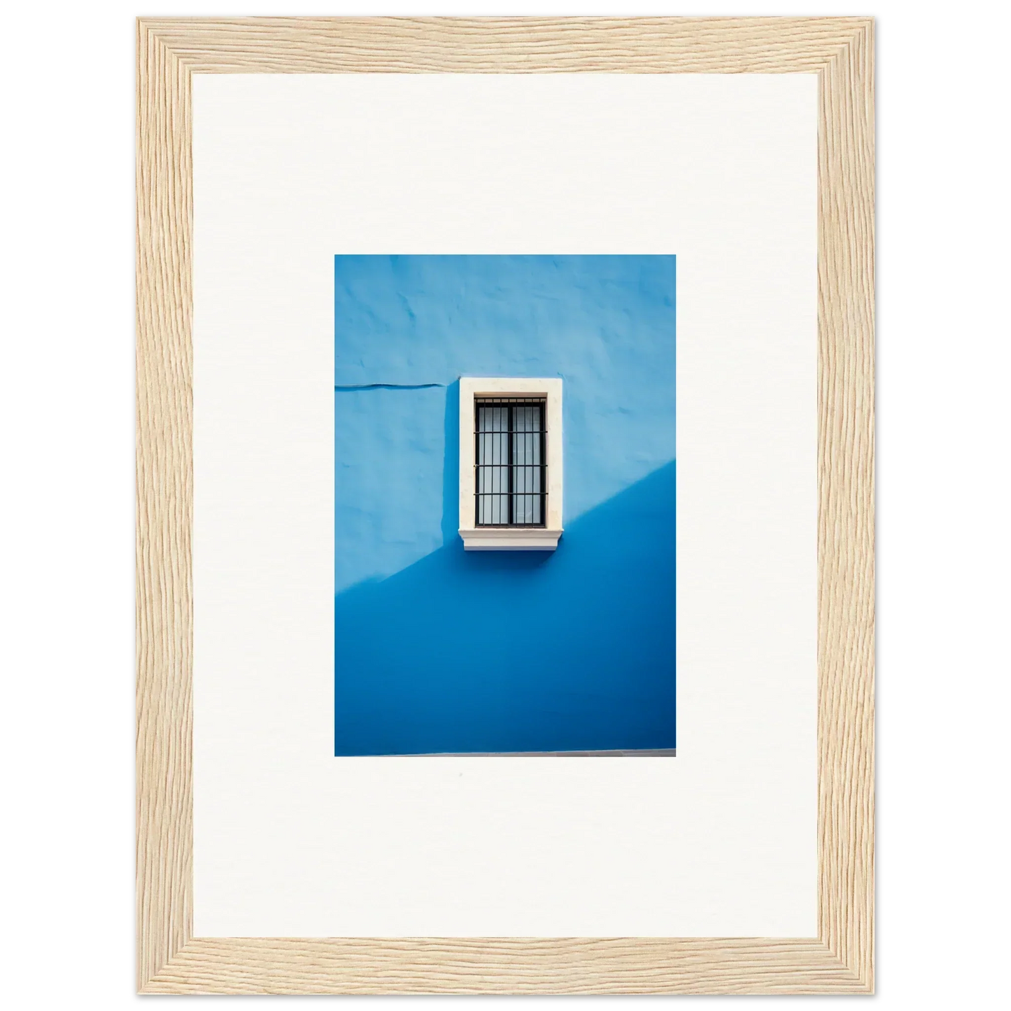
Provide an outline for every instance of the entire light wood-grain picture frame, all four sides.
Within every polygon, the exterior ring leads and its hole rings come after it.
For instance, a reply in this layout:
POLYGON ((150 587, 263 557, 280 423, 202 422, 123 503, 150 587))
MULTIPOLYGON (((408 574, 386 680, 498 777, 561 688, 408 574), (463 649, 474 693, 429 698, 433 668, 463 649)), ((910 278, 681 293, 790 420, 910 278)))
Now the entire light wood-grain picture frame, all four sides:
POLYGON ((136 989, 859 994, 874 989, 874 19, 135 19, 136 989), (817 73, 817 939, 193 938, 194 73, 817 73))

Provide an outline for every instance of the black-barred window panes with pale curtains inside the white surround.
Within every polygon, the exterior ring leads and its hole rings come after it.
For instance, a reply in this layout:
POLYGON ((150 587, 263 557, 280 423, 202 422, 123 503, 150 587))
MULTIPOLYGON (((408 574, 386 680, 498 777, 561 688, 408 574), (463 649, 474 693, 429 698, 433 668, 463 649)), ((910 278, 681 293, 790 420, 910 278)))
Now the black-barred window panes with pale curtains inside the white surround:
POLYGON ((548 464, 543 396, 474 398, 474 522, 543 527, 548 464))

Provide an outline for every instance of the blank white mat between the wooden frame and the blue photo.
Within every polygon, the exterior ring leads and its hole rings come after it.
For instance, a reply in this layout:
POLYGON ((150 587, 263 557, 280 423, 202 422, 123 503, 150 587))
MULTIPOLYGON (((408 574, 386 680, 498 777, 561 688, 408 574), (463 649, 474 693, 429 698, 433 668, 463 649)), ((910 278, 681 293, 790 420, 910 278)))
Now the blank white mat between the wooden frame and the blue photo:
POLYGON ((197 75, 193 117, 195 933, 815 936, 817 77, 197 75), (676 255, 676 760, 333 757, 341 253, 676 255))

